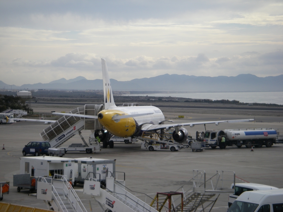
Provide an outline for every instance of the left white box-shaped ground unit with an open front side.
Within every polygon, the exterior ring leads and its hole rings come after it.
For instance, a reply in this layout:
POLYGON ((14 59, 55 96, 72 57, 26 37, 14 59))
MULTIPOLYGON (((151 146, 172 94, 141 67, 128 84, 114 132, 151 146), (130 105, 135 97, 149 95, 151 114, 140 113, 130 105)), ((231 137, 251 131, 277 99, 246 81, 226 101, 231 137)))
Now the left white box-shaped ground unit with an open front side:
POLYGON ((21 157, 20 160, 20 174, 30 174, 35 177, 61 174, 74 182, 75 159, 73 158, 38 156, 21 157))

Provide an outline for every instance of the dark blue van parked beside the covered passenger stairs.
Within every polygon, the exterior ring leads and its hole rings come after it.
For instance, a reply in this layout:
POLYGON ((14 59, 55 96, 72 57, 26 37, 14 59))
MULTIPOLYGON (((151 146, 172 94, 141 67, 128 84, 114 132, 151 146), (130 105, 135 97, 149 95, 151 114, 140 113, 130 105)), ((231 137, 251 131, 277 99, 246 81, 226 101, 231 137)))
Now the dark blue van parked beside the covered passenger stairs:
POLYGON ((26 156, 27 154, 31 154, 35 156, 40 156, 40 155, 48 156, 49 147, 50 147, 49 142, 43 142, 43 141, 29 142, 23 148, 23 155, 26 156))

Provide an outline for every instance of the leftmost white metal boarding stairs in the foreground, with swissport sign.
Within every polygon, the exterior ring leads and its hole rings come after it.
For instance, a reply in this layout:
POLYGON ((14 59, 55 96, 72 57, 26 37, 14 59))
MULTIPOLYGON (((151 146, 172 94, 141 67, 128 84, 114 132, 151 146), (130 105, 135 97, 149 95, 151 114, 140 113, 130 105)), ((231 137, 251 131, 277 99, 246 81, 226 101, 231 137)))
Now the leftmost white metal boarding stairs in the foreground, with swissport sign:
POLYGON ((87 212, 65 175, 55 174, 53 178, 39 177, 36 198, 44 200, 49 210, 87 212))

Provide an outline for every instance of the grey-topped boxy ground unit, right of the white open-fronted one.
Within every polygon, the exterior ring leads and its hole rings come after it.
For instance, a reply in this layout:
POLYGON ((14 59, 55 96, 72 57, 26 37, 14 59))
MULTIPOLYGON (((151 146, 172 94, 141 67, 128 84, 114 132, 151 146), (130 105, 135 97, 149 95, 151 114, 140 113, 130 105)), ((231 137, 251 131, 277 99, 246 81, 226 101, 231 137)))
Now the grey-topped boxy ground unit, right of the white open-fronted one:
POLYGON ((98 174, 97 178, 91 176, 96 181, 100 181, 102 185, 105 185, 106 170, 115 172, 116 160, 100 159, 100 158, 75 158, 75 181, 74 186, 77 183, 84 184, 88 173, 93 172, 98 174))

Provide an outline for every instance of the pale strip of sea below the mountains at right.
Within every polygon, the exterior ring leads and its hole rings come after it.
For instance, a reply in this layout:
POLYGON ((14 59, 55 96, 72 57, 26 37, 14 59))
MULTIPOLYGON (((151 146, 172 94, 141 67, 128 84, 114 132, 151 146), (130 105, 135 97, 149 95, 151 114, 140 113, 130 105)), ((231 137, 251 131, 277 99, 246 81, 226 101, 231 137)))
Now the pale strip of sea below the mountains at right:
POLYGON ((217 92, 217 93, 150 93, 127 94, 125 96, 184 97, 192 99, 228 99, 244 103, 268 103, 283 105, 283 92, 217 92))

